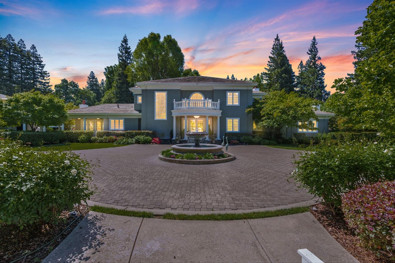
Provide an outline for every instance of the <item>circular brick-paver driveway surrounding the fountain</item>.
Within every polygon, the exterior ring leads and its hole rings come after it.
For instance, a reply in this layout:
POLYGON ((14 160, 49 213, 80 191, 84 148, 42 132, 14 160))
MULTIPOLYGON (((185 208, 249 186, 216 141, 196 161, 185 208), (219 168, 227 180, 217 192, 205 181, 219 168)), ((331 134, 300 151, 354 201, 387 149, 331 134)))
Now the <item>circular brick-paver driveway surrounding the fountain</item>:
MULTIPOLYGON (((276 207, 312 199, 288 183, 296 151, 266 146, 230 146, 237 160, 224 164, 187 165, 163 162, 169 145, 128 145, 76 151, 100 160, 92 201, 127 207, 218 211, 276 207)), ((292 181, 292 180, 291 180, 292 181)))

